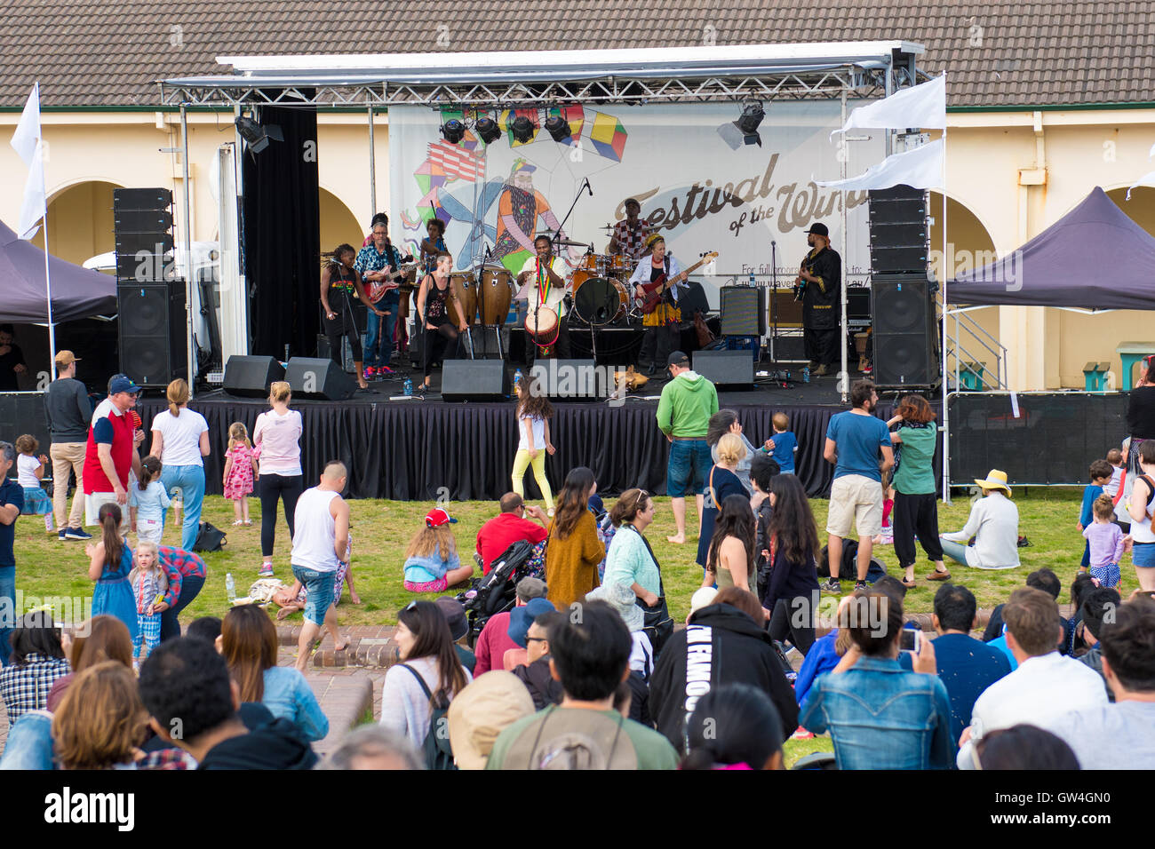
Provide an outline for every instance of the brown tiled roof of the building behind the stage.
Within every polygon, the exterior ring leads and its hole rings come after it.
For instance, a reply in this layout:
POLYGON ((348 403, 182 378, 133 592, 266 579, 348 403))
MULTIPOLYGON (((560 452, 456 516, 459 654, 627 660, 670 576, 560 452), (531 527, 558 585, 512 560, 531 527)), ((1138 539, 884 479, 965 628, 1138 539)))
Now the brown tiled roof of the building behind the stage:
POLYGON ((906 39, 951 106, 1155 100, 1155 3, 941 0, 2 0, 0 107, 155 105, 217 55, 906 39))

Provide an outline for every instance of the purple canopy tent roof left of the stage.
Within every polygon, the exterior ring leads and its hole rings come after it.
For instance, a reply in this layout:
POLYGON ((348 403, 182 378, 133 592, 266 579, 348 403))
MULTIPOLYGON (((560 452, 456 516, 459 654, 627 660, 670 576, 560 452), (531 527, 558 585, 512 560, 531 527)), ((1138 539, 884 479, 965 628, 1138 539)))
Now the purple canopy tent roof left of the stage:
MULTIPOLYGON (((87 319, 117 311, 117 280, 49 256, 52 321, 87 319)), ((47 323, 44 251, 0 223, 0 321, 47 323)))

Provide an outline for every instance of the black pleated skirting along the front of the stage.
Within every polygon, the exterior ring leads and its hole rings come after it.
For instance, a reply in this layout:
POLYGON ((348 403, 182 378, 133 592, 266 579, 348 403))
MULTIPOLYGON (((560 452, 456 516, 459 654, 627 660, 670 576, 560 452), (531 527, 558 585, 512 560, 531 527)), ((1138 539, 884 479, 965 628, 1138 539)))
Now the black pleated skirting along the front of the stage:
MULTIPOLYGON (((244 422, 252 433, 256 416, 268 408, 261 401, 228 396, 198 399, 189 405, 209 423, 213 454, 206 457, 206 477, 208 491, 221 494, 229 425, 244 422)), ((774 412, 787 412, 798 437, 799 479, 811 497, 829 493, 834 467, 822 460, 822 448, 830 416, 843 408, 723 407, 738 412, 754 446, 772 435, 774 412)), ((306 486, 315 484, 326 462, 341 460, 349 467, 346 494, 352 498, 423 501, 446 494, 454 500, 491 500, 511 489, 517 447, 512 403, 303 401, 293 408, 300 411, 305 426, 301 455, 306 486)), ((163 409, 161 400, 139 403, 146 431, 163 409)), ((880 407, 879 415, 887 418, 891 409, 880 407)), ((588 466, 599 492, 614 494, 641 486, 664 494, 669 442, 657 429, 656 410, 651 401, 627 401, 619 408, 604 402, 557 404, 550 430, 558 452, 545 463, 554 493, 569 469, 588 466)), ((939 462, 936 459, 936 468, 940 468, 939 462)), ((537 490, 531 472, 526 475, 526 487, 532 498, 537 490)))

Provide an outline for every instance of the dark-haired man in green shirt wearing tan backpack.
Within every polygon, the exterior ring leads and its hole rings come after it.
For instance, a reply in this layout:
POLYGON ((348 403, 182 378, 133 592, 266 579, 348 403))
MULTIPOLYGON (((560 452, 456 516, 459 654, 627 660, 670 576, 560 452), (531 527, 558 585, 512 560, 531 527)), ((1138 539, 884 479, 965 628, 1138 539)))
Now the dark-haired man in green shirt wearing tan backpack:
POLYGON ((506 728, 486 769, 677 767, 678 757, 662 735, 613 709, 614 694, 629 676, 631 639, 621 617, 603 602, 583 603, 581 613, 566 617, 550 634, 550 666, 565 691, 561 703, 506 728))

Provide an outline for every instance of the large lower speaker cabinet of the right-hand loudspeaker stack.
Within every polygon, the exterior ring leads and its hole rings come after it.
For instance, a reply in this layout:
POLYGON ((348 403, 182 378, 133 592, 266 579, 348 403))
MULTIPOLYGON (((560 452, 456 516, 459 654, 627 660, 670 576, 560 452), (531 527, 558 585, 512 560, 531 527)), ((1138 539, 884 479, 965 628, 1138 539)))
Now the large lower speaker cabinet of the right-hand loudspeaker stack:
POLYGON ((877 276, 871 291, 874 382, 880 387, 934 386, 938 334, 930 282, 911 275, 877 276))

